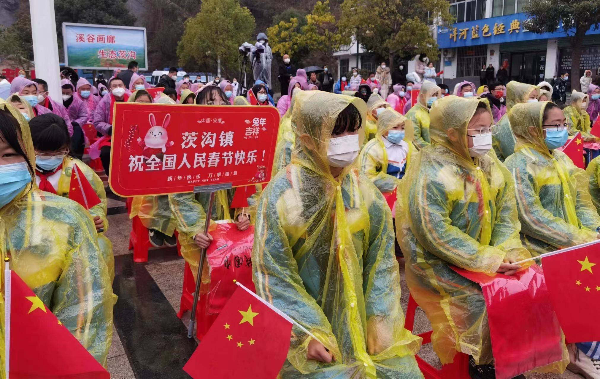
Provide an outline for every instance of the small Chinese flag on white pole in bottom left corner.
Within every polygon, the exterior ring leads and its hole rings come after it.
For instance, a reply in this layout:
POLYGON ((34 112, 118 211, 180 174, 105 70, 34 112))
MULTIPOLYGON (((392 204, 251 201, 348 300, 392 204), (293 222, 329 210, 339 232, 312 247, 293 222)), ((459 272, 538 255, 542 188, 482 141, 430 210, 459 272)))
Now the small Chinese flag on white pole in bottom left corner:
POLYGON ((106 369, 19 275, 12 270, 4 273, 7 378, 109 379, 106 369))

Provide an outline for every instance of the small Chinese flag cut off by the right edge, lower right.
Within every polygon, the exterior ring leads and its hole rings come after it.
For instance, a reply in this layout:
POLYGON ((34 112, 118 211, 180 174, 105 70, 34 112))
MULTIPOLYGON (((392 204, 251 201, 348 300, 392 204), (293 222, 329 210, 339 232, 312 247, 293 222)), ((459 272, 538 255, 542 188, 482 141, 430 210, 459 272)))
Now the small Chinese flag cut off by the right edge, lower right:
POLYGON ((600 241, 542 256, 542 268, 566 341, 600 341, 600 241))

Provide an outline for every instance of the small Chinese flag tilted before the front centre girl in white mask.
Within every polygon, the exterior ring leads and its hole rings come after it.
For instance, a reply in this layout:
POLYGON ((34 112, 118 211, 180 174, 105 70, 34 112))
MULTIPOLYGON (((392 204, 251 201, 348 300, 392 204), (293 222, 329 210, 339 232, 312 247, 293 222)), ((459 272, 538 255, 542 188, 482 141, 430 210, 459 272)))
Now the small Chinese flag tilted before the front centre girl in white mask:
POLYGON ((290 347, 292 322, 238 287, 185 364, 194 379, 275 379, 290 347))

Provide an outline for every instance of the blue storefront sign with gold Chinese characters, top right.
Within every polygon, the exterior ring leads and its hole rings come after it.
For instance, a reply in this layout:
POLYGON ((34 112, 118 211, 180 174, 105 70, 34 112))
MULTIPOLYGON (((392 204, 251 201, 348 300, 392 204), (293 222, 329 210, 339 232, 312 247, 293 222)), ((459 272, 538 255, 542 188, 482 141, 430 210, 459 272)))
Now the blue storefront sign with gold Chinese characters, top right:
MULTIPOLYGON (((554 33, 530 32, 523 25, 525 20, 527 20, 527 14, 515 13, 456 23, 451 28, 438 26, 437 44, 439 48, 451 48, 567 37, 562 29, 554 33)), ((600 34, 600 29, 592 29, 587 34, 600 34)), ((571 32, 569 35, 572 35, 571 32)))

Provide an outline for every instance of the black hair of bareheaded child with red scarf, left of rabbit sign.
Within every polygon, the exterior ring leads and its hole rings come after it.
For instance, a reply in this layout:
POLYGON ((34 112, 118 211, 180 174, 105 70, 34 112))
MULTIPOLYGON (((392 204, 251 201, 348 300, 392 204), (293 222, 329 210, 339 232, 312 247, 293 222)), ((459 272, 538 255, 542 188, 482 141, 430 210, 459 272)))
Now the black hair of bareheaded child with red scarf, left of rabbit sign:
POLYGON ((71 145, 67 123, 56 114, 46 113, 34 117, 29 120, 29 129, 35 150, 56 151, 71 145))

